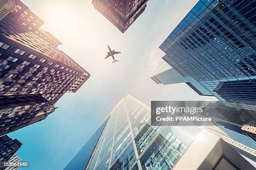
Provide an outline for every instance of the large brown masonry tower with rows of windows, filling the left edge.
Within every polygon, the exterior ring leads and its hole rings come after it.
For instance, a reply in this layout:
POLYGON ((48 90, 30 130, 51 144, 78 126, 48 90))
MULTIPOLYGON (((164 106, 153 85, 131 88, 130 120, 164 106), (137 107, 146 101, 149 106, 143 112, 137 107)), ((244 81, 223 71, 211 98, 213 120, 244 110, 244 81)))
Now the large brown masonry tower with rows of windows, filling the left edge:
POLYGON ((0 21, 0 135, 44 120, 65 92, 76 92, 90 77, 34 31, 10 16, 0 21))

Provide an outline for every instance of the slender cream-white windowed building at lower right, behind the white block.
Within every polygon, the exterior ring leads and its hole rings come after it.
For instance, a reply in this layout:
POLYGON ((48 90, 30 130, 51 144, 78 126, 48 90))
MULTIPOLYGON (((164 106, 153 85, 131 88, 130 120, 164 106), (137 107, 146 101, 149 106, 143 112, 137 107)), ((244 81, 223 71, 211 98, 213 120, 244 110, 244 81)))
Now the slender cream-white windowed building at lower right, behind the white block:
POLYGON ((207 130, 208 132, 222 138, 226 143, 228 143, 232 148, 234 148, 238 153, 256 162, 256 149, 250 148, 242 143, 231 138, 227 133, 225 133, 221 128, 215 125, 205 125, 199 128, 200 130, 207 130))

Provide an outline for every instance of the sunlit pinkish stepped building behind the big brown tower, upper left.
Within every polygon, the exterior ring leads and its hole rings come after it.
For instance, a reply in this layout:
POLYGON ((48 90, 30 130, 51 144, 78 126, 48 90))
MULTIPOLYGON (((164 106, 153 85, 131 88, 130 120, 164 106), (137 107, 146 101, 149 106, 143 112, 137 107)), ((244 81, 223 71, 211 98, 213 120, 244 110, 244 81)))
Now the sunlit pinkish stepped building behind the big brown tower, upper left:
POLYGON ((25 4, 20 0, 15 0, 16 10, 8 15, 16 23, 34 32, 38 37, 49 42, 54 47, 58 47, 62 43, 54 37, 50 32, 42 30, 40 27, 44 24, 35 13, 33 13, 25 4))

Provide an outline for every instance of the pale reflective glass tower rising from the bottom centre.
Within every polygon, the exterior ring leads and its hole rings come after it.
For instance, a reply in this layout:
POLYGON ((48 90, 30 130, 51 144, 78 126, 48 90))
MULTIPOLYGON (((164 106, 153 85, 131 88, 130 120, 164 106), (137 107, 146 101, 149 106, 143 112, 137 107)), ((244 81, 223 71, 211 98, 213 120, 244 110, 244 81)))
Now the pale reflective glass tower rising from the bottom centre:
POLYGON ((87 170, 170 170, 194 136, 178 126, 151 126, 151 110, 131 95, 109 113, 87 170))

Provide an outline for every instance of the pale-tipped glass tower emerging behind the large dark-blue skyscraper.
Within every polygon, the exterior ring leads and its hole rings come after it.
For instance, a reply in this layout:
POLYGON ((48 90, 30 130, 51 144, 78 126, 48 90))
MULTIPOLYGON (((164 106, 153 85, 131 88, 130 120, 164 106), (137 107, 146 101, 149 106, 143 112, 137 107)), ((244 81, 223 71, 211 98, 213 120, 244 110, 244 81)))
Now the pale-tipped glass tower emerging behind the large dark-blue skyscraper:
POLYGON ((156 84, 170 85, 176 83, 186 83, 191 87, 198 95, 213 96, 208 90, 205 89, 199 82, 193 77, 183 77, 179 72, 172 68, 169 64, 164 62, 156 73, 150 77, 156 84))

